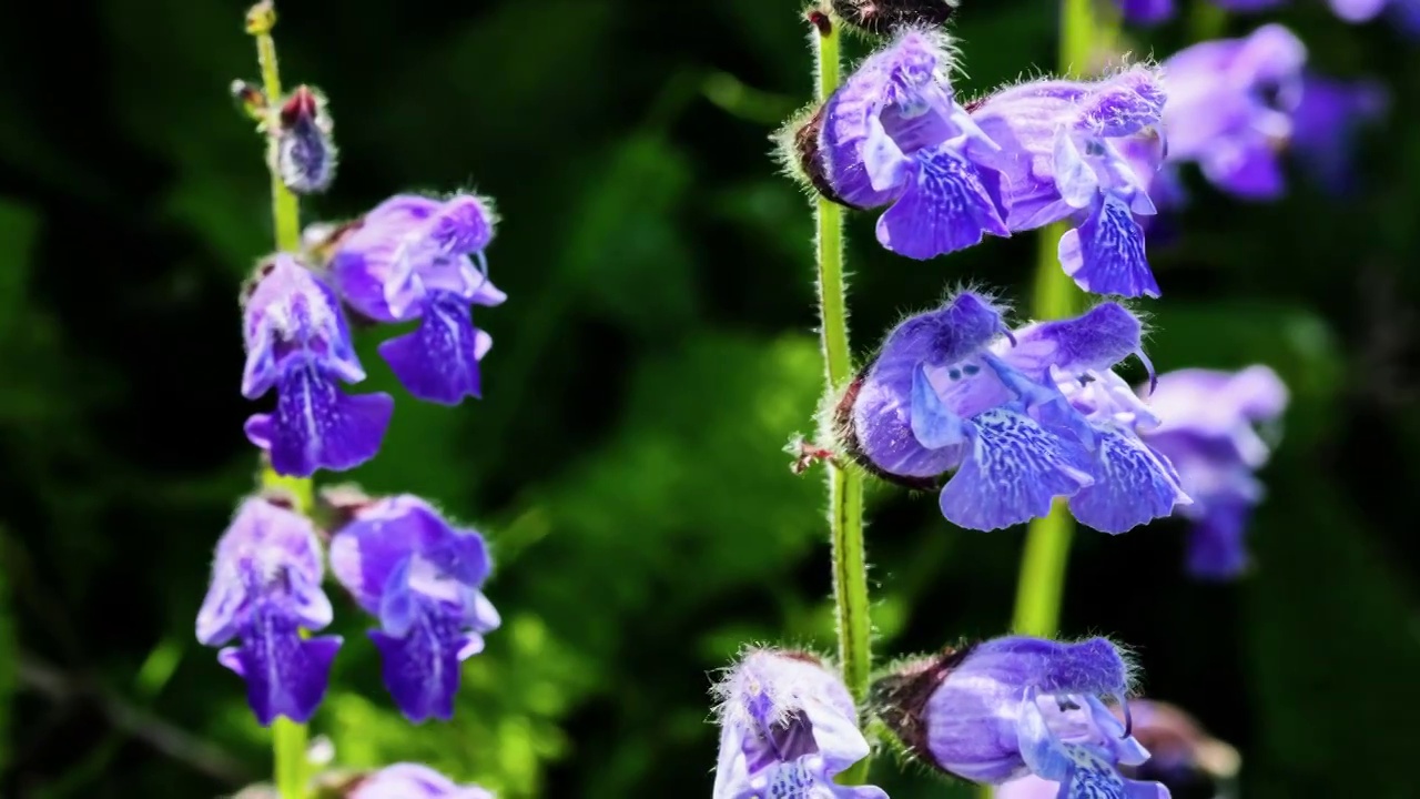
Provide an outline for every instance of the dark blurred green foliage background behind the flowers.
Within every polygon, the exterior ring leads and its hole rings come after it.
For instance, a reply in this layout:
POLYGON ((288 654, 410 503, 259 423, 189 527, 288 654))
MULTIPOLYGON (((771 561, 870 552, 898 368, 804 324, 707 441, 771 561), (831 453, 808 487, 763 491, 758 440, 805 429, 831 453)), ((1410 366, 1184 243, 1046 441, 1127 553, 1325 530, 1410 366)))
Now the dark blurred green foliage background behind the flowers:
MULTIPOLYGON (((237 286, 271 246, 244 4, 30 3, 0 26, 0 795, 217 796, 261 779, 267 734, 193 638, 212 547, 253 486, 237 286)), ((426 761, 508 799, 704 796, 707 688, 741 644, 829 650, 822 473, 781 448, 821 392, 811 218, 770 135, 807 102, 799 0, 287 0, 287 84, 329 97, 342 163, 307 220, 403 189, 476 188, 510 300, 484 400, 402 394, 351 475, 491 540, 504 617, 452 724, 410 728, 366 618, 314 729, 339 762, 426 761)), ((1265 363, 1294 392, 1252 525, 1257 570, 1183 574, 1183 525, 1076 537, 1064 634, 1132 644, 1149 695, 1244 756, 1242 795, 1414 796, 1420 732, 1420 44, 1316 0, 1277 16, 1312 65, 1373 77, 1389 118, 1338 196, 1194 202, 1152 240, 1160 371, 1265 363)), ((1055 4, 963 0, 985 91, 1055 60, 1055 4)), ((1257 18, 1237 17, 1241 34, 1257 18)), ((1149 31, 1164 57, 1187 23, 1149 31)), ((861 53, 863 43, 852 45, 861 53)), ((853 340, 961 281, 1024 297, 1031 236, 929 263, 851 220, 853 340)), ((1139 372, 1130 372, 1137 380, 1139 372)), ((1021 530, 951 529, 880 488, 869 556, 882 657, 1005 630, 1021 530)), ((875 769, 896 799, 967 795, 875 769)))

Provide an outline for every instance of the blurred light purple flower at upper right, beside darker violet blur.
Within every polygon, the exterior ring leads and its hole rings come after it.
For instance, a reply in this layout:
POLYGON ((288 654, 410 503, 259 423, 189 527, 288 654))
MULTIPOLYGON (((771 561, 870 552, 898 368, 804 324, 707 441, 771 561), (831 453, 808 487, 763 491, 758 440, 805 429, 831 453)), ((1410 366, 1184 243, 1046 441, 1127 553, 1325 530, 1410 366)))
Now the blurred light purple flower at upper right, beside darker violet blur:
POLYGON ((1305 63, 1306 47, 1278 24, 1194 44, 1164 61, 1169 161, 1197 162, 1208 181, 1241 198, 1278 196, 1279 151, 1292 135, 1305 63))

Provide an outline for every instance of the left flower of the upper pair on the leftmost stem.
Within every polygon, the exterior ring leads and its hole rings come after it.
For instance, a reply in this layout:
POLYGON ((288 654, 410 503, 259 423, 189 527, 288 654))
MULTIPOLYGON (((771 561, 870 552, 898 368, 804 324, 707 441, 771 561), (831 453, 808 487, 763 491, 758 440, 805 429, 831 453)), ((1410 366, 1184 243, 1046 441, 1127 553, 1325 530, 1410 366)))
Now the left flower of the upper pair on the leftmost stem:
POLYGON ((365 380, 339 300, 290 254, 266 264, 244 303, 247 364, 241 394, 277 390, 275 411, 247 419, 251 444, 271 455, 281 475, 342 471, 379 451, 395 401, 388 394, 349 397, 339 382, 365 380))

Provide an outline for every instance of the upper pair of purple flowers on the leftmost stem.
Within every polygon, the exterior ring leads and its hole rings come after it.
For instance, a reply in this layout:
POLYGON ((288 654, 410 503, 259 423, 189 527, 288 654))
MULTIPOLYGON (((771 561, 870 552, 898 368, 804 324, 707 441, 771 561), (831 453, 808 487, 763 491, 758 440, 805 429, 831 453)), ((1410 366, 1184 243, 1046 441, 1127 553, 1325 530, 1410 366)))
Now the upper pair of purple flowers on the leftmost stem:
POLYGON ((260 267, 243 303, 241 392, 254 400, 277 391, 275 409, 253 415, 246 432, 278 473, 358 466, 389 427, 388 394, 339 390, 365 378, 344 306, 381 323, 419 320, 379 347, 416 398, 452 405, 479 395, 479 361, 493 340, 473 327, 470 307, 504 300, 483 254, 493 225, 488 202, 476 195, 399 195, 339 227, 324 267, 293 253, 260 267))

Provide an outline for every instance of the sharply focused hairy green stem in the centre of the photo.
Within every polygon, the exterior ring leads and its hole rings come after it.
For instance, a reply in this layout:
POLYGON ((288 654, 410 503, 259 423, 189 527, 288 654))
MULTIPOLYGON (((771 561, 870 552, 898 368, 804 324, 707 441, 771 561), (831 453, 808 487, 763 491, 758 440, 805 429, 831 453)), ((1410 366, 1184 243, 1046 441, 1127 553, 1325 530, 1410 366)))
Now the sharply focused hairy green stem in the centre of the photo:
MULTIPOLYGON (((826 13, 815 14, 815 70, 818 101, 828 100, 839 81, 839 31, 826 13)), ((843 280, 843 209, 818 198, 815 260, 818 263, 819 333, 828 391, 841 390, 852 377, 848 348, 848 286, 843 280)), ((834 547, 834 607, 838 627, 838 663, 843 682, 859 705, 868 698, 872 672, 868 608, 868 566, 863 556, 863 478, 851 469, 829 465, 828 523, 834 547)), ((843 785, 868 781, 869 758, 839 776, 843 785)))

